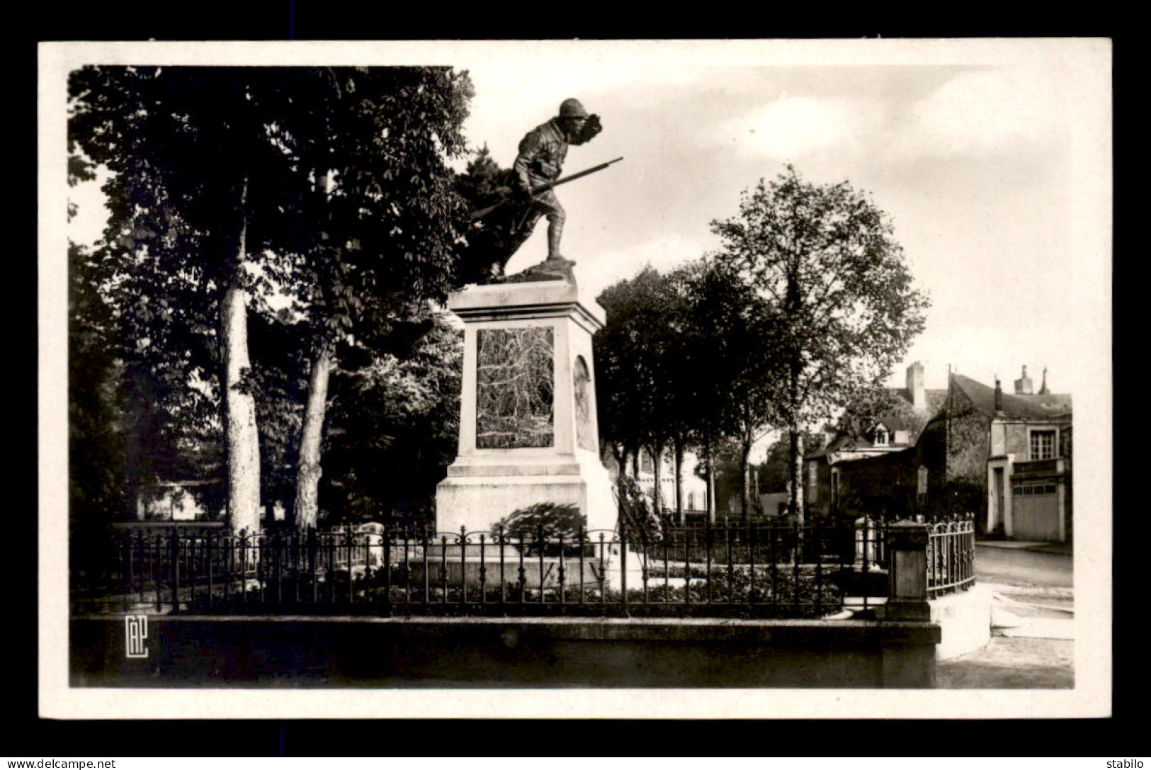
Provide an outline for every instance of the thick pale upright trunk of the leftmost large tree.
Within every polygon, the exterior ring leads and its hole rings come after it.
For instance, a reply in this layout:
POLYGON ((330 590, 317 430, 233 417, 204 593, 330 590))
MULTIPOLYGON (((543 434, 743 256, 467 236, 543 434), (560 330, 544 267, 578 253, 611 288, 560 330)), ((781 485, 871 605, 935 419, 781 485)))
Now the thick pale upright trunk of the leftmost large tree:
MULTIPOLYGON (((241 236, 241 244, 243 244, 241 236)), ((241 245, 243 253, 243 245, 241 245)), ((247 292, 233 285, 221 308, 224 367, 224 425, 228 451, 228 514, 233 532, 260 528, 260 437, 256 397, 239 388, 247 359, 247 292)))

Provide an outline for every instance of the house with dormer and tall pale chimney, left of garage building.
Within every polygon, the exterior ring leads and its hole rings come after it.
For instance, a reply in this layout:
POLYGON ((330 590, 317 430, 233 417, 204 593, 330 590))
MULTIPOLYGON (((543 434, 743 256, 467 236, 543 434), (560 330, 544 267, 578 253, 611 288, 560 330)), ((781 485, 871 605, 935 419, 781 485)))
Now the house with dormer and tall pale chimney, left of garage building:
POLYGON ((862 435, 844 430, 828 433, 822 449, 805 455, 803 495, 809 514, 854 518, 861 509, 878 514, 882 511, 877 509, 897 508, 889 500, 889 482, 902 479, 893 468, 906 458, 901 457, 893 465, 872 462, 859 466, 852 489, 844 485, 844 468, 848 463, 895 455, 915 445, 946 399, 947 390, 924 387, 920 361, 907 367, 906 382, 906 388, 887 389, 887 407, 862 430, 862 435))

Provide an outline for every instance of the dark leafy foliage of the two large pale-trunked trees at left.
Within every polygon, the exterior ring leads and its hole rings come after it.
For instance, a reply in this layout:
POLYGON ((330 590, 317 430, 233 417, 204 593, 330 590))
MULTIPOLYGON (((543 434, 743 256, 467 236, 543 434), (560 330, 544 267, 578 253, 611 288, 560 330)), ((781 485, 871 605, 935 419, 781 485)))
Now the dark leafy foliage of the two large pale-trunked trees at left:
POLYGON ((166 419, 219 432, 220 303, 251 293, 265 319, 233 387, 258 399, 265 496, 291 483, 306 364, 349 341, 390 354, 407 343, 389 334, 458 285, 466 204, 445 161, 465 151, 471 93, 443 67, 73 73, 70 180, 110 171, 83 276, 108 337, 181 394, 166 419))

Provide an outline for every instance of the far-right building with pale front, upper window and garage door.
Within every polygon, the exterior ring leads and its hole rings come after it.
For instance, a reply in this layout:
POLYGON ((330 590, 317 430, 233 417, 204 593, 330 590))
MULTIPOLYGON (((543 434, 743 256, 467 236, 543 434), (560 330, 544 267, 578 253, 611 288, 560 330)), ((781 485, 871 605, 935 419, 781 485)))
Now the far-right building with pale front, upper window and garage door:
POLYGON ((1015 391, 952 374, 914 447, 837 458, 839 516, 971 512, 977 531, 1015 540, 1072 536, 1072 397, 1038 392, 1023 367, 1015 391))

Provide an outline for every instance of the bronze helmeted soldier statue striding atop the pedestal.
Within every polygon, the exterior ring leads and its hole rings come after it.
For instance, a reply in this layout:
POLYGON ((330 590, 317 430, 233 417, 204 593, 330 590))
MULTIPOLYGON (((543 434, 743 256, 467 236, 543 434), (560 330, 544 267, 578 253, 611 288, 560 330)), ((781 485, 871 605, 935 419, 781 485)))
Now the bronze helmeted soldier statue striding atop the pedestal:
POLYGON ((564 259, 559 253, 565 213, 556 198, 555 190, 548 186, 535 195, 532 190, 540 185, 550 185, 559 178, 569 145, 590 142, 602 130, 599 115, 589 115, 578 99, 565 99, 559 105, 558 115, 528 131, 519 143, 519 155, 512 166, 516 184, 513 192, 529 205, 520 224, 519 235, 526 239, 535 229, 540 218, 547 216, 548 258, 542 266, 544 268, 566 272, 574 262, 564 259))

